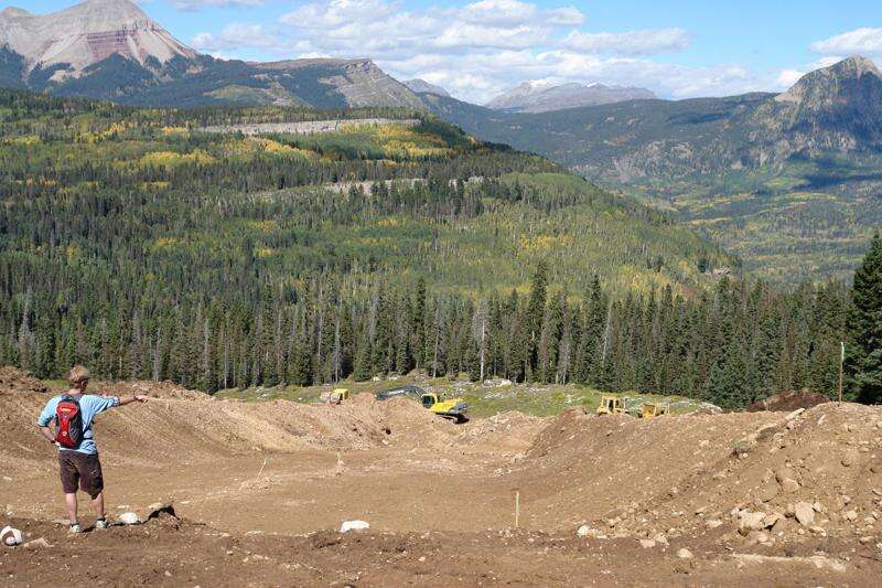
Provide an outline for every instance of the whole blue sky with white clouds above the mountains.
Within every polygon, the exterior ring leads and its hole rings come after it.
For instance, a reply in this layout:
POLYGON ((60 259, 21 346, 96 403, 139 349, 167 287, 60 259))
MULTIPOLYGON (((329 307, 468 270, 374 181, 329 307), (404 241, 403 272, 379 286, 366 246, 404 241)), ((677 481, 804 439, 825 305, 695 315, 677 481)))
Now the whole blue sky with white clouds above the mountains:
MULTIPOLYGON (((72 3, 20 0, 35 13, 72 3)), ((216 56, 367 56, 400 79, 422 77, 477 103, 525 81, 636 85, 684 98, 783 89, 853 53, 882 63, 879 0, 138 3, 216 56)))

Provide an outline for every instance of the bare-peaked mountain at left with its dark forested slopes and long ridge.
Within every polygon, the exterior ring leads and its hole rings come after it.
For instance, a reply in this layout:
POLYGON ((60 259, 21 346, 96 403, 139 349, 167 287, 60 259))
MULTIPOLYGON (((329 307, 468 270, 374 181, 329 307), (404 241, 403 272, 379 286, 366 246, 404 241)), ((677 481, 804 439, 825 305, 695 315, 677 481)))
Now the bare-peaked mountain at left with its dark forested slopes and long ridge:
POLYGON ((370 60, 246 63, 191 50, 130 0, 0 13, 0 86, 138 106, 422 106, 370 60))

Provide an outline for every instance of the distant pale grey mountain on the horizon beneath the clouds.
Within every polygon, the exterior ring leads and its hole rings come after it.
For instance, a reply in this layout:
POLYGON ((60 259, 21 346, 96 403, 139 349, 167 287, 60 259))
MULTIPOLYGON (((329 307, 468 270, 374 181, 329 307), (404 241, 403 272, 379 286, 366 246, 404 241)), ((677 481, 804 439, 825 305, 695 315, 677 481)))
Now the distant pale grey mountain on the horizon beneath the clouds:
POLYGON ((487 108, 512 113, 547 113, 625 100, 648 100, 655 97, 655 94, 644 88, 623 88, 603 84, 547 86, 526 82, 488 101, 487 108))

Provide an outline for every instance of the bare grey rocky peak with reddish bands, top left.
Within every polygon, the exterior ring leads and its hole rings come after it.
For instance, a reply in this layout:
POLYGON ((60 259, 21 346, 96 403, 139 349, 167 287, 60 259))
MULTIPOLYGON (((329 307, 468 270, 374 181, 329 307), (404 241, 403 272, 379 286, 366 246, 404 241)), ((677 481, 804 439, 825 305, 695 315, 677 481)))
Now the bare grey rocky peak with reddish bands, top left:
POLYGON ((78 76, 111 55, 143 65, 196 53, 175 40, 129 0, 86 0, 35 15, 10 8, 0 13, 0 45, 24 58, 28 71, 55 68, 54 79, 78 76))

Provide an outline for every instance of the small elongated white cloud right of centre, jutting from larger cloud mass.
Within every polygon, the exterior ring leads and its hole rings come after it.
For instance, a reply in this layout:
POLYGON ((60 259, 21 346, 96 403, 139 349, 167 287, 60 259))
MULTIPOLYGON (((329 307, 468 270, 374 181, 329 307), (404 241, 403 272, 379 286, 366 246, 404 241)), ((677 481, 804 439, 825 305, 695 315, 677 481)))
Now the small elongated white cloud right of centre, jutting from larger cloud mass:
POLYGON ((627 31, 624 33, 585 33, 571 31, 562 45, 584 53, 616 53, 619 55, 652 55, 681 51, 689 45, 689 35, 682 29, 627 31))

